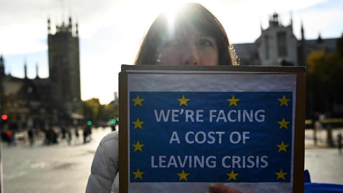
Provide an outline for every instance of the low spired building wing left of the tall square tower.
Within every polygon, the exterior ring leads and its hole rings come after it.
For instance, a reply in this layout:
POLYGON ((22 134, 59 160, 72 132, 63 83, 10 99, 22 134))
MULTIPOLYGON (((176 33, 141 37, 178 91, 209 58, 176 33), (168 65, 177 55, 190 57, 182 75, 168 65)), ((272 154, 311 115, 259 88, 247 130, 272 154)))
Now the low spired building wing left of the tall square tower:
MULTIPOLYGON (((7 122, 14 129, 21 129, 27 120, 35 118, 37 126, 44 126, 45 120, 51 120, 54 113, 49 107, 50 80, 28 79, 26 64, 24 79, 4 73, 4 59, 0 57, 0 114, 8 115, 7 122)), ((38 71, 38 68, 37 68, 38 71)))

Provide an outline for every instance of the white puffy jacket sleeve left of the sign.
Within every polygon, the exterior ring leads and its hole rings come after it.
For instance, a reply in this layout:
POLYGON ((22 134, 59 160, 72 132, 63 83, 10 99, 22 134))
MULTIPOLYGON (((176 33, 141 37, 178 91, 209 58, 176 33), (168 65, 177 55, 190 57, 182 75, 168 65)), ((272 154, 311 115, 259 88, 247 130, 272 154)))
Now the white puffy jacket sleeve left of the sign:
POLYGON ((92 163, 86 193, 118 193, 118 130, 100 142, 92 163))

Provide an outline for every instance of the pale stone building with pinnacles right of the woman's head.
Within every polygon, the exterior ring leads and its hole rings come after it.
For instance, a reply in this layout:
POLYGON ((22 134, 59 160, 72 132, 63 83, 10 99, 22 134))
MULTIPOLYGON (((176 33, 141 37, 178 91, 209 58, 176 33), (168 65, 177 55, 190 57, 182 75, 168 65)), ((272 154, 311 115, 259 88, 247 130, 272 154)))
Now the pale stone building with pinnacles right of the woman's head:
POLYGON ((240 65, 257 66, 306 66, 309 53, 324 49, 329 53, 336 51, 336 38, 306 40, 301 25, 301 39, 293 34, 293 21, 284 26, 279 15, 274 13, 265 30, 261 26, 261 36, 255 43, 234 45, 240 65))

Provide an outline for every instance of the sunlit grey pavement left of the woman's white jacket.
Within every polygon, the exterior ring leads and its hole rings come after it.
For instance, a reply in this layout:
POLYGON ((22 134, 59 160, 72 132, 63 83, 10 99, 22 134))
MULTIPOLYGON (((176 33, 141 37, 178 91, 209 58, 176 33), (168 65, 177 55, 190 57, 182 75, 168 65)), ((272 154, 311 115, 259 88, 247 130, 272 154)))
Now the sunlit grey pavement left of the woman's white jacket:
POLYGON ((85 192, 96 148, 110 132, 110 127, 93 129, 92 141, 84 145, 81 132, 72 145, 62 141, 45 146, 41 140, 33 147, 2 144, 4 192, 85 192))

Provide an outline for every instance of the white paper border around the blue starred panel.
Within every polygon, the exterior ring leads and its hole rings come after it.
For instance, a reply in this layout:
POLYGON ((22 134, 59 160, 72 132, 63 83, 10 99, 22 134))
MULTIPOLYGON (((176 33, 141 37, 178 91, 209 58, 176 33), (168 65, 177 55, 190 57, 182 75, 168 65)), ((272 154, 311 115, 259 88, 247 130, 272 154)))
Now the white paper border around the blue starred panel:
MULTIPOLYGON (((142 70, 146 72, 145 70, 142 70)), ((154 71, 156 72, 156 71, 154 71)), ((170 72, 170 71, 168 71, 170 72)), ((179 71, 180 73, 186 73, 179 71)), ((203 71, 202 71, 203 72, 203 71)), ((223 72, 221 72, 223 73, 223 72)), ((237 73, 237 72, 234 72, 237 73)), ((247 72, 244 72, 247 73, 247 72)), ((261 73, 261 72, 253 72, 261 73)), ((263 73, 263 72, 262 72, 263 73)), ((128 120, 130 120, 130 92, 293 92, 292 158, 291 182, 222 183, 242 192, 292 192, 294 166, 294 124, 296 103, 296 78, 294 74, 249 75, 249 74, 128 74, 128 120), (220 80, 220 81, 218 81, 220 80)), ((130 121, 128 121, 130 128, 130 121)), ((128 129, 128 160, 130 160, 130 129, 128 129)), ((130 182, 130 161, 128 162, 129 192, 205 192, 210 183, 204 182, 130 182)))

